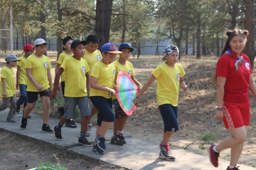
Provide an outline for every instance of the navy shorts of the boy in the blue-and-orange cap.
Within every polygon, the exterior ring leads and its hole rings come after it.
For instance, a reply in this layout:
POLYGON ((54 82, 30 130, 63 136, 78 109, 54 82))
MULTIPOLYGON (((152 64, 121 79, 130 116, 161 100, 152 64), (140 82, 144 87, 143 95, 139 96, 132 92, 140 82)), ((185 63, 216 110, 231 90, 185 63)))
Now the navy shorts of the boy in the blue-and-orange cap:
POLYGON ((114 122, 115 114, 112 110, 112 98, 106 99, 103 96, 90 96, 93 106, 98 109, 97 125, 101 126, 102 121, 114 122))

